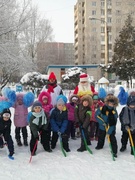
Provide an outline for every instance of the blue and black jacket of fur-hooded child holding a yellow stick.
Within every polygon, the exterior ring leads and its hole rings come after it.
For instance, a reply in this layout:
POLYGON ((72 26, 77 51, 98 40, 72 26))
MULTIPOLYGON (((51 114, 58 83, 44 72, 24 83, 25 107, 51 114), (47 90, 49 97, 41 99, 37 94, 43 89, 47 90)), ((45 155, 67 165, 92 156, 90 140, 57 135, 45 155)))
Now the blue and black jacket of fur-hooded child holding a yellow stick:
POLYGON ((95 113, 95 118, 99 123, 99 129, 106 131, 107 127, 108 134, 112 134, 112 132, 116 130, 118 113, 115 107, 104 105, 98 108, 95 113), (110 117, 109 114, 111 114, 110 117))

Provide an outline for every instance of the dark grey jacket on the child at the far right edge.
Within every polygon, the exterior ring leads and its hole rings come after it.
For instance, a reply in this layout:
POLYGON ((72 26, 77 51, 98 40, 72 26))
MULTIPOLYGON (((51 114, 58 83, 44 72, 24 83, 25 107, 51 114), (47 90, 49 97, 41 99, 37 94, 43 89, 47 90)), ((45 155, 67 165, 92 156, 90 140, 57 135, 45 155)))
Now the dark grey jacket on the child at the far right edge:
POLYGON ((124 108, 123 123, 129 124, 132 129, 135 129, 135 108, 124 108))

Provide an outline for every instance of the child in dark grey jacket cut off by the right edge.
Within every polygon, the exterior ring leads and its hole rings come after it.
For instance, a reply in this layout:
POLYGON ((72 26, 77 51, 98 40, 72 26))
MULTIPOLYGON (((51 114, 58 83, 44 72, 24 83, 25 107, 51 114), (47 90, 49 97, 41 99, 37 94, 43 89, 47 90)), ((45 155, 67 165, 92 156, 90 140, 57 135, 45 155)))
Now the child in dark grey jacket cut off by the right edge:
MULTIPOLYGON (((126 146, 128 143, 128 131, 127 128, 129 127, 131 130, 131 135, 133 138, 133 142, 135 143, 135 96, 130 95, 127 99, 127 105, 123 107, 123 109, 120 112, 119 115, 120 122, 121 122, 121 143, 122 147, 120 148, 120 151, 123 152, 126 150, 126 146)), ((132 148, 131 148, 131 154, 133 154, 132 148)))

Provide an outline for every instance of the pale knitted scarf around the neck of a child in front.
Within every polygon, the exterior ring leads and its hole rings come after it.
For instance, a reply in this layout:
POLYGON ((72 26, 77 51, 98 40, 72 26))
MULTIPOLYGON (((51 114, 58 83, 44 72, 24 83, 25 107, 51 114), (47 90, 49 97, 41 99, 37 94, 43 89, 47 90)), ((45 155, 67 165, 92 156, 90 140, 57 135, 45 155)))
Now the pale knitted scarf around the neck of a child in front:
POLYGON ((44 111, 40 111, 39 113, 32 112, 32 115, 35 116, 35 119, 33 120, 33 124, 39 125, 40 117, 42 118, 41 125, 47 124, 46 116, 44 111))

